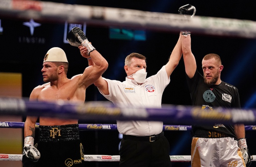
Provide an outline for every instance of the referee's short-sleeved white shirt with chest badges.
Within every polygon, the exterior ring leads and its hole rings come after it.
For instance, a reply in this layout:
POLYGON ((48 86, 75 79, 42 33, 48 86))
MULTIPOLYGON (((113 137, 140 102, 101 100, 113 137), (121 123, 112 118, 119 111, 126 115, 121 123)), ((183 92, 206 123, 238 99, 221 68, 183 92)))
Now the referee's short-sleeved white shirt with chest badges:
MULTIPOLYGON (((147 78, 141 85, 127 77, 124 82, 103 79, 108 83, 109 95, 104 95, 101 91, 100 93, 116 106, 122 107, 161 108, 163 91, 170 83, 165 66, 156 75, 147 78)), ((124 135, 151 136, 161 133, 163 122, 117 120, 117 128, 119 133, 124 135)))

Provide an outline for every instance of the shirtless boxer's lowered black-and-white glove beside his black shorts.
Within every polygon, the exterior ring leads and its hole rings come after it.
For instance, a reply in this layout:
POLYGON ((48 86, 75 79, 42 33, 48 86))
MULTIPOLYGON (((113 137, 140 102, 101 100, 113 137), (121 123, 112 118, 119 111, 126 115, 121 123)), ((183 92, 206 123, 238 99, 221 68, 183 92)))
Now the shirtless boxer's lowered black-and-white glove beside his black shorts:
POLYGON ((32 136, 26 136, 22 153, 23 166, 33 167, 40 157, 40 152, 34 147, 34 138, 32 136))

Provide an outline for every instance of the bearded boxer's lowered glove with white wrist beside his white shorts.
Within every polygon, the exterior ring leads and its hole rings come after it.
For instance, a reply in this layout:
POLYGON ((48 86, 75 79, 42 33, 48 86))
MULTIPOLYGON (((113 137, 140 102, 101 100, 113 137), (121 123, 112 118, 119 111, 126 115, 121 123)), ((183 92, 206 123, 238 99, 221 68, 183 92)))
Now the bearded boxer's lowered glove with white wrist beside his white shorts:
POLYGON ((249 149, 247 148, 246 138, 238 139, 237 145, 242 152, 242 157, 244 158, 246 167, 249 167, 251 165, 251 154, 249 152, 249 149))

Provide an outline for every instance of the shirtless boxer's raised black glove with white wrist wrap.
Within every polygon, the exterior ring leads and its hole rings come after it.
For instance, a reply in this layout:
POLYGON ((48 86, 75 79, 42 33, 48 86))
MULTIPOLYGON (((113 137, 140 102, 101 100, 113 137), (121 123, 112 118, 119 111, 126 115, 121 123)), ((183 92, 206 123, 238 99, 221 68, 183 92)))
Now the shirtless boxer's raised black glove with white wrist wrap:
POLYGON ((85 33, 79 27, 74 27, 71 31, 69 31, 67 34, 67 41, 72 46, 85 46, 87 48, 88 55, 91 51, 95 50, 85 36, 85 33))

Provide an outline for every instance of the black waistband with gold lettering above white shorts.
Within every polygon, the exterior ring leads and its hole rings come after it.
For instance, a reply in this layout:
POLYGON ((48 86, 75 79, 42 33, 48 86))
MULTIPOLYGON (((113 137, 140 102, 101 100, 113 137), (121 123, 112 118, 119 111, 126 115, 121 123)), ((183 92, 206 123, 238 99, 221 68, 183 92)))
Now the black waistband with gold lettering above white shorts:
POLYGON ((207 130, 196 130, 194 137, 198 138, 224 138, 232 137, 227 133, 216 132, 216 131, 207 131, 207 130))

